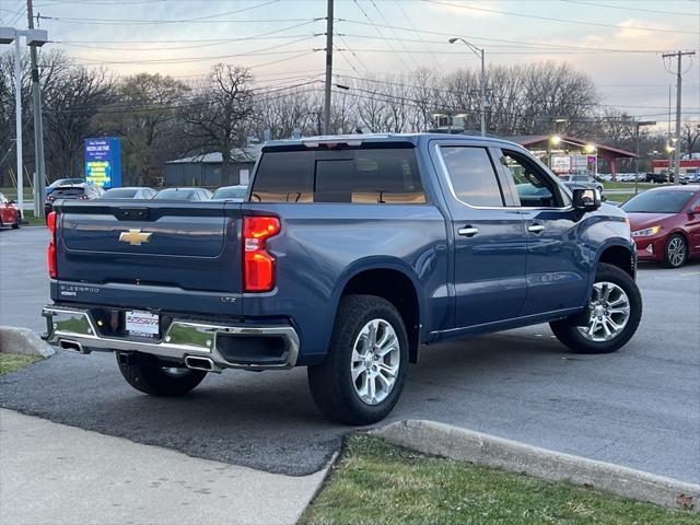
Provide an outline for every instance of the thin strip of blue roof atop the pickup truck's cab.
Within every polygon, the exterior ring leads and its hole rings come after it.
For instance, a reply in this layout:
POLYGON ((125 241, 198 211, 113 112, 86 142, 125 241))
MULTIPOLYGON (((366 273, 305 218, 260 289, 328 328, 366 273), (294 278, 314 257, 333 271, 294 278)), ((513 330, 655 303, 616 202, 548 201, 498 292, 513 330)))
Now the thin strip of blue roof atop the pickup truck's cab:
POLYGON ((494 142, 498 144, 516 145, 514 142, 497 137, 481 137, 478 135, 447 135, 447 133, 358 133, 358 135, 327 135, 316 137, 302 137, 299 139, 271 140, 266 142, 262 151, 278 148, 318 148, 319 144, 347 144, 360 145, 362 143, 411 143, 418 144, 419 140, 425 139, 451 139, 465 142, 494 142))

